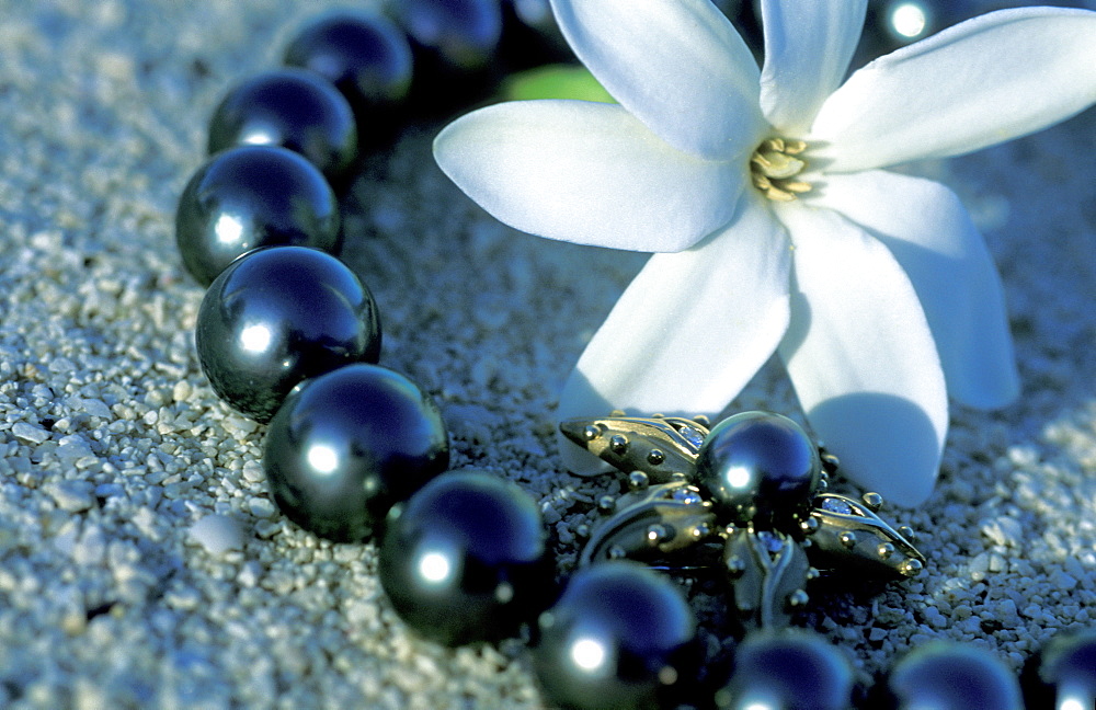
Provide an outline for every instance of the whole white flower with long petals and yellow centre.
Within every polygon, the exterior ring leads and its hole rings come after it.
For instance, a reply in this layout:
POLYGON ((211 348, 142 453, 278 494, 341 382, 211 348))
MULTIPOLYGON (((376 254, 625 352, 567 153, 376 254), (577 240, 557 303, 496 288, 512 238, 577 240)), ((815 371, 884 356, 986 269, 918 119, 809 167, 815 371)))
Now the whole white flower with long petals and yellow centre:
POLYGON ((842 84, 865 0, 765 0, 760 71, 709 0, 552 5, 619 105, 490 106, 449 125, 434 152, 517 229, 664 252, 590 342, 560 415, 718 413, 776 352, 843 470, 924 501, 947 393, 998 406, 1017 375, 997 273, 966 209, 941 184, 881 169, 1086 108, 1096 13, 994 12, 842 84))

